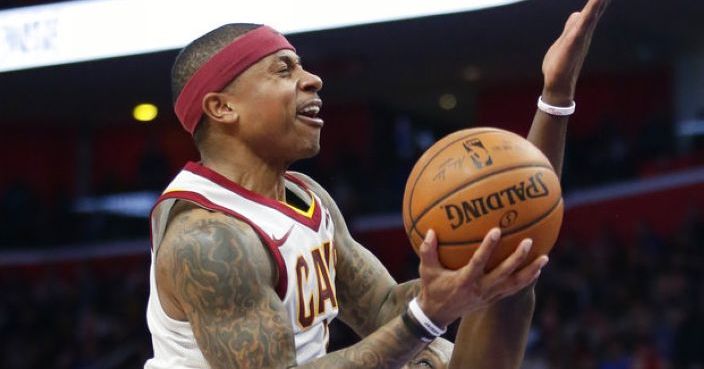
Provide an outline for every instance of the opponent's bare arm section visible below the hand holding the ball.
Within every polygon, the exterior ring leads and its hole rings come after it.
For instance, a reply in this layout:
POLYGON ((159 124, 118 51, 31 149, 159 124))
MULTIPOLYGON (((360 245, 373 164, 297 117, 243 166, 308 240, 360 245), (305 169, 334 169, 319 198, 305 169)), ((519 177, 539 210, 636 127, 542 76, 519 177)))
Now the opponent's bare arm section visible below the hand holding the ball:
POLYGON ((530 286, 462 317, 449 368, 519 368, 534 308, 535 292, 530 286))

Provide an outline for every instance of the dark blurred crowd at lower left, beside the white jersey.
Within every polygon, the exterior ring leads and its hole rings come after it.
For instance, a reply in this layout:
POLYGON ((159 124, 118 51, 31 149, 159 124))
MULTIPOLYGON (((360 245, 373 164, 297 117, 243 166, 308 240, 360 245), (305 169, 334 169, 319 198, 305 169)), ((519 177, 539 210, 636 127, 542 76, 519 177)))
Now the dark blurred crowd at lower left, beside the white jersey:
POLYGON ((0 270, 0 367, 142 367, 151 343, 148 264, 139 259, 0 270))

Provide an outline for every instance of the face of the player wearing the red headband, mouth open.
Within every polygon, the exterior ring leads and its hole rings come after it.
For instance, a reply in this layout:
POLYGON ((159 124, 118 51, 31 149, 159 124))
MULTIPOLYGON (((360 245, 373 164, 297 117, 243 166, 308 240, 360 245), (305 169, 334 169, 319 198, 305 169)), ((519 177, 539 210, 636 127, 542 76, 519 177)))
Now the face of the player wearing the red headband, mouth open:
POLYGON ((250 149, 290 163, 320 150, 322 86, 318 76, 303 69, 296 53, 280 50, 247 69, 225 92, 250 149))

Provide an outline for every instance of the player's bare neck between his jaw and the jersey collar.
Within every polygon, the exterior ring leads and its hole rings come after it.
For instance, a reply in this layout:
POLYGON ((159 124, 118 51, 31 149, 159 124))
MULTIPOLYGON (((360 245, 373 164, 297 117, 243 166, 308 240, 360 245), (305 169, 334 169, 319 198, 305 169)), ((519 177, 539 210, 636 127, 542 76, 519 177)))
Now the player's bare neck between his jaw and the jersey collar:
POLYGON ((284 200, 286 166, 271 165, 261 158, 248 155, 202 156, 204 166, 238 185, 260 195, 284 200))

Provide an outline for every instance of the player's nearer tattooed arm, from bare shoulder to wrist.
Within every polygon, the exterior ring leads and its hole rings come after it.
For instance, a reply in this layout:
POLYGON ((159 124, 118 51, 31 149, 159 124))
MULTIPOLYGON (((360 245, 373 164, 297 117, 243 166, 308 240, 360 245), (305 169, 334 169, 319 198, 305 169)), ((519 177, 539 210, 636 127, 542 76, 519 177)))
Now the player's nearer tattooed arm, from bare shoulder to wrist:
POLYGON ((203 209, 176 215, 157 253, 162 305, 190 322, 214 369, 400 368, 424 346, 396 318, 354 346, 297 366, 276 277, 248 225, 203 209))

